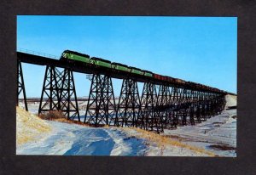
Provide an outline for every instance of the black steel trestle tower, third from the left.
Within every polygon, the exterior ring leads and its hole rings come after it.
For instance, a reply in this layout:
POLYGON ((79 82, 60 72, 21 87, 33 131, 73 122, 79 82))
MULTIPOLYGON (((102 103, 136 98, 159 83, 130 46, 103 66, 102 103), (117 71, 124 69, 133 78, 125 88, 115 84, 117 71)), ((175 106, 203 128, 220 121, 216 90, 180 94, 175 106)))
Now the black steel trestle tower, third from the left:
POLYGON ((100 74, 93 75, 84 123, 90 123, 96 127, 113 124, 116 120, 115 114, 116 106, 111 77, 100 74))

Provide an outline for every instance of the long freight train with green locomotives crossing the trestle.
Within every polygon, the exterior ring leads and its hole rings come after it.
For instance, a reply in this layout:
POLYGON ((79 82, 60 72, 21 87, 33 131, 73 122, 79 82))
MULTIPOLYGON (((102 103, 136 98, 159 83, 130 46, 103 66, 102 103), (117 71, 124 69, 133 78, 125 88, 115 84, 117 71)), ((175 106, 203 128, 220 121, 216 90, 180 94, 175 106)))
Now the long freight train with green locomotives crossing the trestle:
POLYGON ((206 90, 212 90, 215 92, 225 93, 224 91, 221 91, 218 88, 210 88, 210 87, 207 87, 200 83, 185 82, 184 80, 181 80, 178 78, 173 78, 171 76, 161 76, 161 75, 155 74, 151 71, 143 71, 136 67, 123 65, 120 63, 112 63, 111 61, 106 60, 106 59, 100 59, 100 58, 96 58, 96 57, 90 58, 90 56, 88 54, 80 54, 78 52, 74 52, 74 51, 70 51, 70 50, 65 50, 61 54, 61 60, 72 63, 73 65, 81 64, 81 62, 82 62, 85 65, 95 65, 96 67, 105 67, 105 68, 113 69, 115 71, 125 71, 125 72, 130 72, 132 74, 137 74, 140 76, 149 76, 154 79, 165 81, 165 82, 176 82, 179 84, 189 85, 190 87, 193 87, 193 88, 203 88, 206 90))

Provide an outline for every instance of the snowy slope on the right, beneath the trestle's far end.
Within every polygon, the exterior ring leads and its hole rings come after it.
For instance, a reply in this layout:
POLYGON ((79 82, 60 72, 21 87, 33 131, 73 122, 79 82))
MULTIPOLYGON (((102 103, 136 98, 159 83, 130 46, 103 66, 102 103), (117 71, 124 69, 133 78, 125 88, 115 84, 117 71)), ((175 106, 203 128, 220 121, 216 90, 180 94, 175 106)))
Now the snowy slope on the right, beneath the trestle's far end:
MULTIPOLYGON (((236 96, 226 96, 226 109, 236 106, 236 96)), ((177 127, 165 130, 164 134, 172 139, 210 150, 219 156, 236 157, 236 109, 224 110, 195 126, 177 127)))

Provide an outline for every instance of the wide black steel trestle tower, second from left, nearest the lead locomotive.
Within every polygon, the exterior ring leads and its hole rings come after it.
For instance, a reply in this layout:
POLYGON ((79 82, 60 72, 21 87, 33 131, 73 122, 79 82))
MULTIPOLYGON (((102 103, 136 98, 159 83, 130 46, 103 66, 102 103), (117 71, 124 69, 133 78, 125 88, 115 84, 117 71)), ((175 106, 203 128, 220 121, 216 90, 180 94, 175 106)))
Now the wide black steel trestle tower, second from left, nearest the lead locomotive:
POLYGON ((49 110, 60 110, 68 120, 78 116, 80 121, 73 71, 70 69, 59 71, 55 66, 46 66, 38 114, 49 110))

